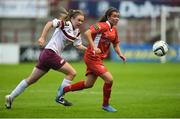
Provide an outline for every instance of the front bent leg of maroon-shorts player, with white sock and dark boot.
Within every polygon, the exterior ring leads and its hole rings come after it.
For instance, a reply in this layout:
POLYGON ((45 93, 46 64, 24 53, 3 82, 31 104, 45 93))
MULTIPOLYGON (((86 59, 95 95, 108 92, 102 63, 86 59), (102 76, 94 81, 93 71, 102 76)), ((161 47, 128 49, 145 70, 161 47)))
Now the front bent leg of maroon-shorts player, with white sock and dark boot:
POLYGON ((56 102, 63 104, 64 106, 71 106, 72 103, 67 101, 63 97, 64 95, 63 88, 71 84, 72 80, 76 76, 76 70, 68 62, 65 62, 65 64, 58 69, 58 71, 64 73, 65 78, 63 79, 61 85, 59 86, 56 102))

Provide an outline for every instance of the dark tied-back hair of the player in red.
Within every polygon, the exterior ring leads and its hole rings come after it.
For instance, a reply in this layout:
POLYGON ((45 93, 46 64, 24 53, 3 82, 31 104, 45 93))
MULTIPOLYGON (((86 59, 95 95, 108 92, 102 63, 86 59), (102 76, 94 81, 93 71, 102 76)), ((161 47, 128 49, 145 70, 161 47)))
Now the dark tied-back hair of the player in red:
POLYGON ((116 8, 114 8, 114 7, 110 7, 110 8, 106 11, 105 15, 100 18, 99 21, 100 21, 100 22, 105 22, 105 21, 107 21, 107 20, 108 20, 108 17, 110 17, 113 12, 119 12, 119 11, 118 11, 118 9, 116 9, 116 8))

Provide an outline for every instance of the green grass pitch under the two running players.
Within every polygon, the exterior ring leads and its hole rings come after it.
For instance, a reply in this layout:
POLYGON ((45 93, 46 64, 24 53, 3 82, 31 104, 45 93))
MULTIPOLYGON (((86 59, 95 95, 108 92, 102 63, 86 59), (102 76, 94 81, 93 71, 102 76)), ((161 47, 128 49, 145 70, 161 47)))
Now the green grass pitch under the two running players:
MULTIPOLYGON (((85 64, 71 63, 77 70, 74 82, 84 79, 85 64)), ((4 96, 27 77, 35 64, 0 65, 0 117, 28 118, 180 118, 180 63, 113 63, 105 62, 114 77, 111 104, 118 112, 101 109, 103 80, 94 87, 70 92, 66 98, 72 107, 55 103, 56 91, 63 74, 51 70, 16 98, 11 110, 4 107, 4 96)))

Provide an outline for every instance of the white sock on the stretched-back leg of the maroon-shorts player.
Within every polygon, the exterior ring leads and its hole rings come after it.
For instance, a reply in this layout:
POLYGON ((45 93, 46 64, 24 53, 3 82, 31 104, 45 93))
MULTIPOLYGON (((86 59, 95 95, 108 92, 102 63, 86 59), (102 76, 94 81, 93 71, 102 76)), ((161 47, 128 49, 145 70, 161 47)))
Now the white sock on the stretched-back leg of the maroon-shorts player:
POLYGON ((16 88, 11 92, 10 97, 12 99, 14 99, 15 97, 17 97, 18 95, 20 95, 28 86, 26 80, 22 80, 17 86, 16 88))

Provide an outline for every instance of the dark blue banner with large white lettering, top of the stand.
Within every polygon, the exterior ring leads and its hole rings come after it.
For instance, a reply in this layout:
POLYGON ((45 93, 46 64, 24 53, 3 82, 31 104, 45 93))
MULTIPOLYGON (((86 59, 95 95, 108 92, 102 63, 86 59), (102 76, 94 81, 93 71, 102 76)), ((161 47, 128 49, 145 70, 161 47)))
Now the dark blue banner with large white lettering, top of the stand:
POLYGON ((124 18, 158 17, 161 6, 180 6, 179 0, 71 0, 69 8, 81 9, 89 17, 100 17, 109 7, 119 9, 124 18))

